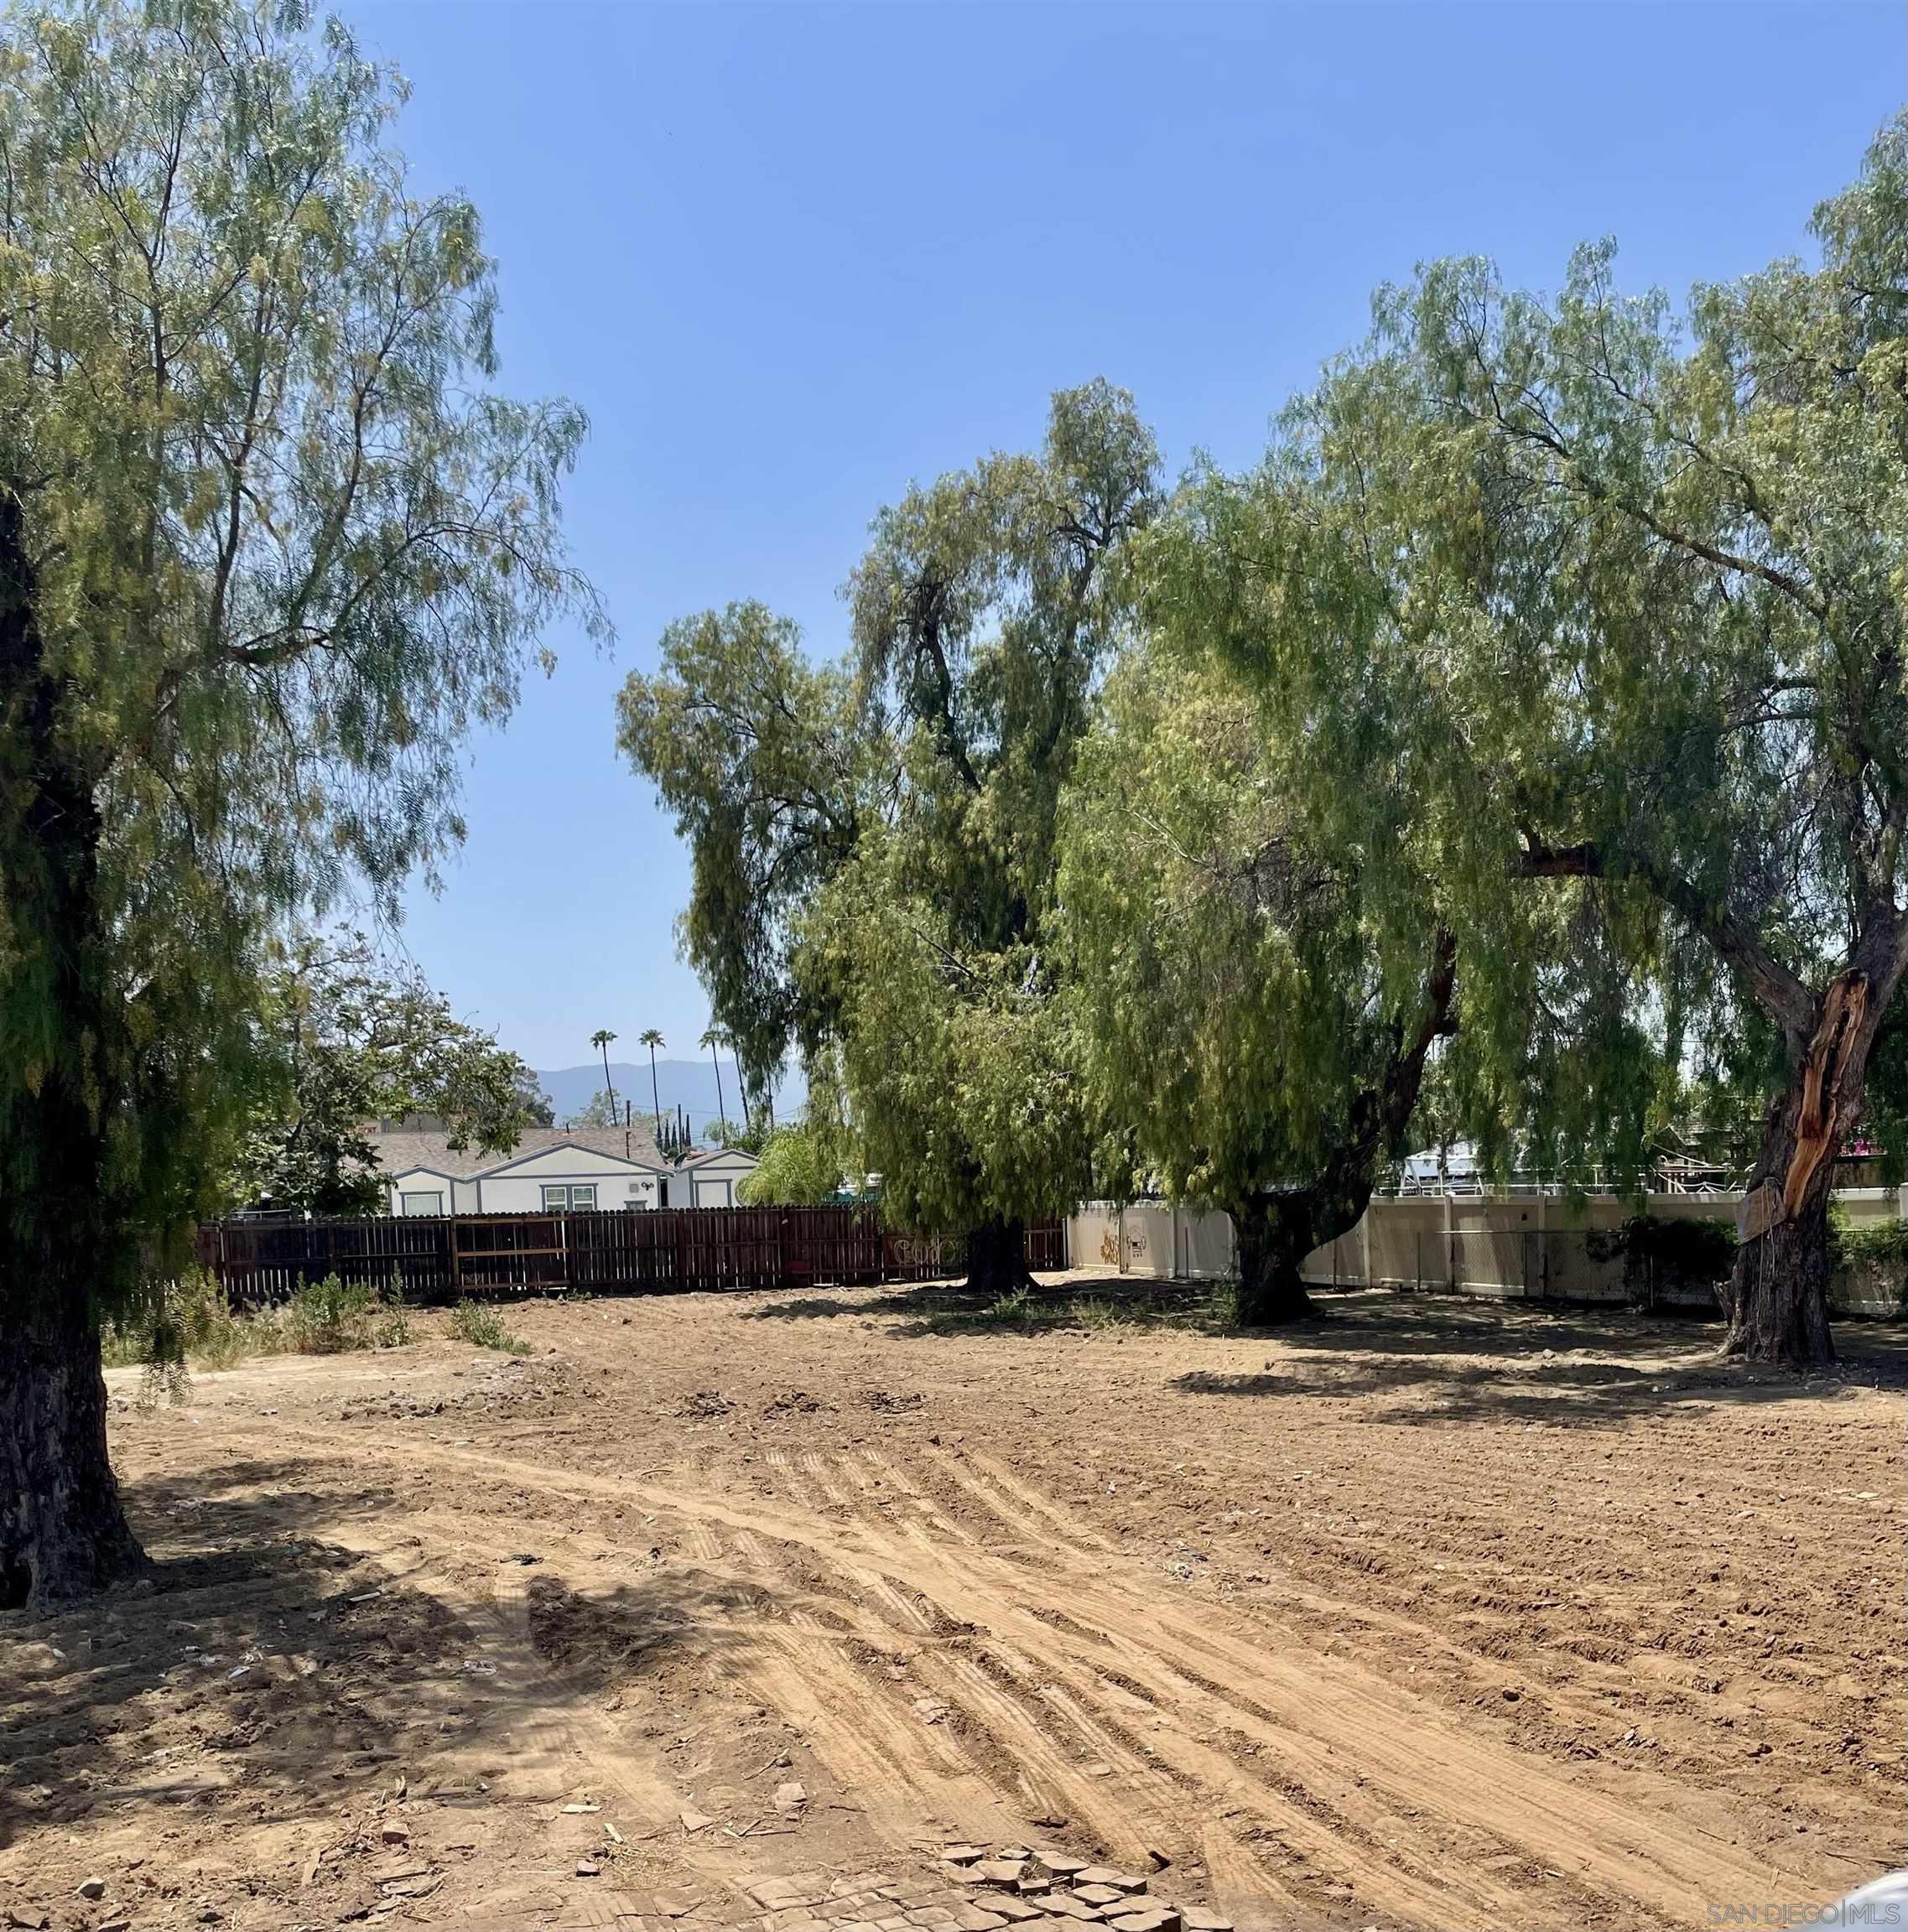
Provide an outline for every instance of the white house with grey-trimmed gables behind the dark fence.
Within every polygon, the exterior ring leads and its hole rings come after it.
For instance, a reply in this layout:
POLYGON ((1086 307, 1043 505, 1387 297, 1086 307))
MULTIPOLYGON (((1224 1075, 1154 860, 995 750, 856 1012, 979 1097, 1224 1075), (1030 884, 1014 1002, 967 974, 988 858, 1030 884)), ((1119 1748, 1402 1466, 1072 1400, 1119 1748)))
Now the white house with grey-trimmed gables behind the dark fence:
POLYGON ((729 1208, 756 1159, 706 1148, 671 1167, 642 1126, 532 1126, 508 1153, 454 1151, 441 1132, 371 1136, 392 1213, 570 1213, 729 1208))

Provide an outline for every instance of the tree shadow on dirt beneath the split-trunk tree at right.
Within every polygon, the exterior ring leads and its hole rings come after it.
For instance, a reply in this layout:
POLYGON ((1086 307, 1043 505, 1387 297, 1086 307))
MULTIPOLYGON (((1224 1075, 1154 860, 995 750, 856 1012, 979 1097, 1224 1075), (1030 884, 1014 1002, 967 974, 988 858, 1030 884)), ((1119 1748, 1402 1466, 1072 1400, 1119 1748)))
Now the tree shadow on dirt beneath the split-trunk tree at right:
POLYGON ((1264 1370, 1193 1370, 1173 1387, 1338 1401, 1396 1395, 1380 1420, 1411 1424, 1603 1422, 1908 1387, 1908 1333, 1881 1323, 1840 1323, 1840 1362, 1804 1376, 1720 1360, 1722 1327, 1707 1320, 1384 1291, 1338 1294, 1326 1306, 1332 1320, 1260 1331, 1278 1349, 1264 1370))

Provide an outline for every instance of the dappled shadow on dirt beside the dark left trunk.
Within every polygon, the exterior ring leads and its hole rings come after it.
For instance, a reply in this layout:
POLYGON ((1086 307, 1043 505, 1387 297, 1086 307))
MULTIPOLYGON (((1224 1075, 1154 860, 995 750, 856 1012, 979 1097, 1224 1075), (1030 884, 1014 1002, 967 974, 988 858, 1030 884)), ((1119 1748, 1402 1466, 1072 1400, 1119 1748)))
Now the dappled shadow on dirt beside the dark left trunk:
POLYGON ((124 1486, 151 1571, 0 1615, 0 1849, 141 1814, 160 1837, 203 1833, 199 1806, 246 1828, 315 1820, 396 1768, 429 1789, 526 1704, 636 1679, 688 1638, 727 1640, 708 1615, 725 1584, 680 1571, 582 1598, 532 1569, 514 1638, 495 1619, 474 1629, 441 1577, 346 1546, 354 1522, 394 1507, 363 1476, 288 1457, 124 1486))

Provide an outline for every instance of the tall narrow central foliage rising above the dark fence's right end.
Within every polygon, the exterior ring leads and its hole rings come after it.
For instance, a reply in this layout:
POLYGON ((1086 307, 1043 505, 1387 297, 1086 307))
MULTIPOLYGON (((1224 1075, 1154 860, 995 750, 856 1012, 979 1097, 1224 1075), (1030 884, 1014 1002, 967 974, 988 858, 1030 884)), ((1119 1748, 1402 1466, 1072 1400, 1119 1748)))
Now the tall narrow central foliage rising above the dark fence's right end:
POLYGON ((1040 456, 883 510, 854 574, 856 676, 893 808, 802 929, 864 1165, 911 1227, 1071 1206, 1090 1175, 1050 931, 1061 788, 1131 632, 1123 562, 1158 452, 1125 392, 1054 398, 1040 456))

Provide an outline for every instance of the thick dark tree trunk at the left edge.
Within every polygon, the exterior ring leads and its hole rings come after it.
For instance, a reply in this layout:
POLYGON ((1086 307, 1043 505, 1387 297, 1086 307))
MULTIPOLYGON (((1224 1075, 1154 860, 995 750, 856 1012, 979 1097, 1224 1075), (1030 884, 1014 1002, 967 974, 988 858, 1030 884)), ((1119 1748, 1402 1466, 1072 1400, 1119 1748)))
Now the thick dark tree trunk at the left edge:
POLYGON ((101 819, 62 730, 21 510, 0 491, 0 1605, 139 1561, 106 1461, 99 1308, 133 1233, 106 1119, 122 1030, 104 970, 101 819), (31 1066, 31 1074, 29 1068, 31 1066))

